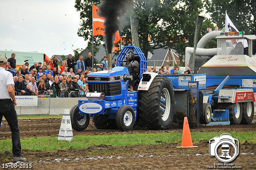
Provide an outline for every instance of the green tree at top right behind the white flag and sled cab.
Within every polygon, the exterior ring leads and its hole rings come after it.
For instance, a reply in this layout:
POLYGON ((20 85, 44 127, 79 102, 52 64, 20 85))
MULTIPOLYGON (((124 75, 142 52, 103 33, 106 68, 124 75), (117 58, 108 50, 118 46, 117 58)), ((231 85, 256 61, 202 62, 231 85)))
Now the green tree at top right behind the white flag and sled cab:
MULTIPOLYGON (((256 34, 256 1, 255 0, 204 0, 206 9, 212 17, 212 22, 220 28, 225 26, 228 16, 239 31, 246 34, 256 34)), ((253 44, 253 54, 256 52, 256 41, 253 44)))

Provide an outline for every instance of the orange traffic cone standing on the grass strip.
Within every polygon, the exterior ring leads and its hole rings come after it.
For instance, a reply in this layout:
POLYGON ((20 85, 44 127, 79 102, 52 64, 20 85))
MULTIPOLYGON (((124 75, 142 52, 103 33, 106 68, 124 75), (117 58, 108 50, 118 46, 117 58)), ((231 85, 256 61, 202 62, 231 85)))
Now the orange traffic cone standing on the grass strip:
POLYGON ((198 146, 193 146, 187 117, 184 117, 181 146, 177 148, 198 148, 198 146))

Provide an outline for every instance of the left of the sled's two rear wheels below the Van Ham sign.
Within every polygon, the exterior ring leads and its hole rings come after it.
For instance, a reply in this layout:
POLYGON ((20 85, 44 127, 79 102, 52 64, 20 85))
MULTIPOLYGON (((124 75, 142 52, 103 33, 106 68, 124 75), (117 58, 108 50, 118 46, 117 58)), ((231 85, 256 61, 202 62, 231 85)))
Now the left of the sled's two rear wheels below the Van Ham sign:
POLYGON ((240 124, 242 120, 242 104, 241 103, 222 103, 217 109, 229 110, 230 124, 240 124))

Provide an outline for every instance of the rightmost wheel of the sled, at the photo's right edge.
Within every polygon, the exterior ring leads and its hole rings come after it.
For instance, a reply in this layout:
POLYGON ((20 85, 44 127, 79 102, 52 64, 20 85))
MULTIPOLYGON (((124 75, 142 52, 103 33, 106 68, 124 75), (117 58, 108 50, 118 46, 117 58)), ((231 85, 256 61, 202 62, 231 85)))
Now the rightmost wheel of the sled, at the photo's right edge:
POLYGON ((241 124, 250 124, 252 123, 253 116, 254 116, 254 103, 253 102, 246 102, 242 103, 243 108, 243 115, 241 124))

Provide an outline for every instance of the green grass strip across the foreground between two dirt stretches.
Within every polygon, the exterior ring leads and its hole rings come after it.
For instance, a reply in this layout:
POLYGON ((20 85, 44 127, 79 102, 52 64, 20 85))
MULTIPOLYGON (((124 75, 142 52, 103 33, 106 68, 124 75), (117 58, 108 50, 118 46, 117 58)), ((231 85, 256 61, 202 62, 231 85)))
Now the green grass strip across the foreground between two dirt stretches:
MULTIPOLYGON (((199 143, 201 140, 207 140, 212 136, 220 136, 223 133, 229 133, 240 143, 248 142, 256 143, 256 132, 191 132, 193 142, 199 143)), ((112 146, 132 146, 132 145, 149 145, 161 144, 156 141, 166 143, 182 142, 182 133, 158 133, 158 134, 113 134, 113 135, 93 135, 93 136, 74 136, 69 142, 66 140, 58 140, 57 137, 38 137, 21 139, 23 149, 31 150, 63 150, 70 147, 88 148, 89 146, 106 144, 112 146)), ((0 140, 0 153, 5 151, 11 152, 11 139, 0 140)))

